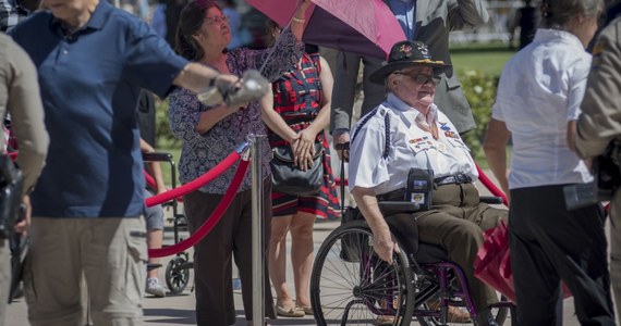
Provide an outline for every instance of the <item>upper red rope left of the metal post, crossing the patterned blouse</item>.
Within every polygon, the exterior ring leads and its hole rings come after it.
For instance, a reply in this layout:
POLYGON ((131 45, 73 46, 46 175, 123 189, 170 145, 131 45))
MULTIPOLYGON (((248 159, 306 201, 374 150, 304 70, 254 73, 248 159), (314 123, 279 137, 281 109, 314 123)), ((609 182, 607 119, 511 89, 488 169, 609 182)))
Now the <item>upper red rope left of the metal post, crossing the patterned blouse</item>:
POLYGON ((230 153, 224 160, 222 160, 222 162, 218 163, 218 165, 214 166, 214 168, 211 168, 209 172, 207 172, 206 174, 202 175, 200 177, 181 186, 181 187, 176 187, 174 189, 170 189, 166 192, 162 193, 158 193, 156 196, 149 197, 145 200, 145 203, 147 204, 147 206, 155 206, 157 204, 160 204, 162 202, 167 202, 170 200, 173 200, 178 197, 182 197, 184 195, 187 195, 200 187, 203 187, 206 184, 209 184, 212 179, 215 179, 217 176, 219 176, 220 174, 222 174, 222 172, 224 172, 227 168, 233 166, 233 164, 240 159, 241 154, 236 151, 230 153))

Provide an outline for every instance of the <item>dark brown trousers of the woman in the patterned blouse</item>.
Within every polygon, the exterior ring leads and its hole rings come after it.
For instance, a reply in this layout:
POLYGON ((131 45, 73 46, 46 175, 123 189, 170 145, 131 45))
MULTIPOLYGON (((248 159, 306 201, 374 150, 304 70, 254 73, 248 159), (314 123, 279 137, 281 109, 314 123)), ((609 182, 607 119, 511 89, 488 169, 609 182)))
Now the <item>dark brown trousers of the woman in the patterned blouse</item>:
MULTIPOLYGON (((264 259, 267 256, 271 225, 271 181, 264 180, 264 259)), ((194 191, 183 198, 190 231, 194 234, 209 217, 222 195, 194 191)), ((235 324, 231 253, 240 269, 242 300, 246 319, 253 316, 252 285, 252 196, 251 189, 238 192, 216 227, 194 246, 196 281, 196 323, 198 326, 235 324)), ((266 316, 276 318, 269 273, 265 274, 266 316)))

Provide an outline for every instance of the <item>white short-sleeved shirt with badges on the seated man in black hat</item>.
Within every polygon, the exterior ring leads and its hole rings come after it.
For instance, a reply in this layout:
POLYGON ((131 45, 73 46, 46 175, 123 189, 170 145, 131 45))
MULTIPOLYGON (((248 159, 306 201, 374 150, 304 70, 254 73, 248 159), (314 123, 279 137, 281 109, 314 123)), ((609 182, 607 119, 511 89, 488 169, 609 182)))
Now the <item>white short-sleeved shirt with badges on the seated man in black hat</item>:
POLYGON ((473 180, 478 178, 470 150, 456 128, 435 104, 430 110, 430 116, 437 115, 437 140, 415 123, 416 116, 423 114, 393 93, 361 118, 352 128, 350 189, 356 186, 373 188, 376 195, 381 195, 404 188, 411 167, 433 170, 436 178, 450 174, 466 174, 473 180), (387 115, 390 142, 388 156, 383 158, 387 115), (366 123, 358 127, 364 121, 366 123))

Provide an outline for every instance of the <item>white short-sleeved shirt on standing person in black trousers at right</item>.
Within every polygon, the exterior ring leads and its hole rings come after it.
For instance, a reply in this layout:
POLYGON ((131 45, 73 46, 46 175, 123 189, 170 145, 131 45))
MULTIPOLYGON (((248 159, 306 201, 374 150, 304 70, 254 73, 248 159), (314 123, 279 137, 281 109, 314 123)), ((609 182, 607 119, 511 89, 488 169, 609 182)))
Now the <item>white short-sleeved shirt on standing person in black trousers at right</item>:
POLYGON ((590 54, 576 36, 541 28, 504 65, 491 116, 512 135, 510 189, 593 180, 567 146, 589 70, 590 54))

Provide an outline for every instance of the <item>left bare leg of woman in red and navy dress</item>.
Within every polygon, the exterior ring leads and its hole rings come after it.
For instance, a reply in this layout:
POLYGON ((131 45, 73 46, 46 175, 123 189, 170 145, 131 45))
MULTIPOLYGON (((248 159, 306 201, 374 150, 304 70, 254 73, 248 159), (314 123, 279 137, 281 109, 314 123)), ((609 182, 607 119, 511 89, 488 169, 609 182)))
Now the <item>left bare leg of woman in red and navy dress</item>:
POLYGON ((276 289, 276 304, 290 310, 294 308, 293 298, 287 287, 287 233, 292 215, 271 218, 271 238, 269 239, 269 277, 276 289))

